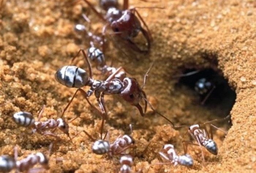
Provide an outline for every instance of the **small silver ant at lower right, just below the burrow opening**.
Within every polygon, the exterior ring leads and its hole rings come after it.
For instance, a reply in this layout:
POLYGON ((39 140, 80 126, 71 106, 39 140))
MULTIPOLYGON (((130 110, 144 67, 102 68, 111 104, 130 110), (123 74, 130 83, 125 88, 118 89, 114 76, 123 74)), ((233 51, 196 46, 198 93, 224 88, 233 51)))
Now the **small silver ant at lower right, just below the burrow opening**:
POLYGON ((230 118, 230 115, 227 115, 225 118, 222 118, 222 119, 214 119, 212 121, 205 122, 201 126, 199 124, 195 124, 195 125, 190 126, 188 128, 188 133, 191 135, 191 137, 193 139, 195 139, 197 141, 197 143, 193 143, 191 141, 183 141, 183 147, 184 147, 185 153, 187 153, 188 145, 196 145, 196 146, 200 147, 203 162, 205 162, 205 160, 204 160, 204 154, 203 154, 202 146, 204 148, 206 148, 208 150, 208 152, 210 152, 214 155, 217 155, 218 154, 218 147, 217 147, 217 144, 214 142, 214 140, 212 140, 212 137, 213 137, 212 128, 215 128, 217 130, 221 130, 225 134, 227 134, 227 133, 226 133, 226 131, 223 131, 222 129, 219 129, 218 127, 213 125, 212 122, 220 121, 220 120, 226 120, 228 118, 230 118), (209 133, 206 129, 206 126, 205 126, 206 124, 210 124, 211 136, 209 135, 209 133))

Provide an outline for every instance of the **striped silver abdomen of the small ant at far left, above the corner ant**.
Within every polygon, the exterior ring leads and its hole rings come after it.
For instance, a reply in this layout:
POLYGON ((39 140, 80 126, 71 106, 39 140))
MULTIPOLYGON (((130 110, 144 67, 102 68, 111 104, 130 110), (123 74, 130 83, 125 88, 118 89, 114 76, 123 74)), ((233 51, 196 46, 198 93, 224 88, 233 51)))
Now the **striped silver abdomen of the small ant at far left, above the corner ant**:
POLYGON ((29 112, 17 112, 12 116, 12 119, 19 126, 31 126, 35 123, 35 119, 29 112))

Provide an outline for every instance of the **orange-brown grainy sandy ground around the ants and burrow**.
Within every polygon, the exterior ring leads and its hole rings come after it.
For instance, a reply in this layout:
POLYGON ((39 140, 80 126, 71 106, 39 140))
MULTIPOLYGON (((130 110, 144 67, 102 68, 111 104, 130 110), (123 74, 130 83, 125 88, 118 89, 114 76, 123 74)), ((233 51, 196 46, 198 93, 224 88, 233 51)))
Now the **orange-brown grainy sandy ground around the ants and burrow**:
MULTIPOLYGON (((70 64, 79 47, 86 47, 84 43, 87 43, 86 38, 79 42, 73 27, 76 23, 84 23, 81 14, 90 10, 84 3, 72 5, 71 2, 0 1, 0 104, 14 99, 13 103, 1 107, 0 154, 12 155, 12 149, 18 145, 19 159, 35 151, 48 155, 48 147, 54 138, 31 135, 30 129, 18 127, 11 116, 22 110, 37 117, 45 104, 42 121, 57 118, 75 92, 54 79, 54 72, 70 64)), ((114 66, 125 67, 142 83, 150 63, 155 61, 145 92, 153 106, 177 125, 203 123, 228 114, 218 106, 201 106, 194 91, 177 87, 177 79, 172 79, 184 68, 218 68, 237 94, 231 110, 233 125, 226 137, 222 132, 214 132, 219 154, 214 156, 204 150, 206 166, 202 165, 201 153, 196 146, 188 149, 194 158, 191 168, 157 165, 162 162, 158 152, 165 143, 173 143, 177 152, 183 153, 181 141, 189 139, 186 129, 173 130, 167 121, 152 111, 141 117, 135 107, 119 97, 106 96, 109 120, 104 131, 109 130, 110 141, 120 134, 129 134, 128 125, 133 124, 132 136, 136 144, 130 152, 135 160, 134 171, 255 172, 255 1, 162 0, 144 3, 136 0, 131 5, 165 9, 139 9, 153 34, 151 52, 140 55, 125 50, 128 55, 124 55, 120 48, 110 45, 106 55, 114 60, 114 66)), ((92 11, 89 17, 94 23, 93 30, 102 26, 92 11)), ((86 68, 82 58, 76 65, 86 68)), ((93 72, 95 78, 102 78, 95 68, 93 72)), ((97 103, 94 97, 90 101, 97 103)), ((71 137, 87 130, 99 138, 100 118, 90 110, 82 96, 75 98, 64 116, 67 120, 81 117, 69 125, 71 137)), ((216 125, 225 130, 228 128, 227 122, 216 125)), ((60 137, 50 156, 49 172, 118 172, 118 157, 93 154, 92 142, 84 133, 76 136, 73 143, 64 134, 60 137)))

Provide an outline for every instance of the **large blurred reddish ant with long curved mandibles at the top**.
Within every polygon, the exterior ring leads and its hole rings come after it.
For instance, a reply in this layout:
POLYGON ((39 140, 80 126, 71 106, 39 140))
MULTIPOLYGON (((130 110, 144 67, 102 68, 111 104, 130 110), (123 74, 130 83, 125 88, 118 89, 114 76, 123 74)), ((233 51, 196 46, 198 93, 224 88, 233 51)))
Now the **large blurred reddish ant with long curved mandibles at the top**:
POLYGON ((103 27, 103 35, 105 35, 106 28, 111 27, 114 34, 120 36, 121 39, 126 40, 133 50, 140 53, 148 53, 150 51, 152 40, 150 30, 136 8, 128 9, 129 0, 124 0, 123 9, 117 8, 116 0, 100 0, 101 7, 107 11, 105 17, 103 17, 103 15, 99 13, 88 0, 83 1, 89 5, 100 19, 107 23, 103 27), (139 18, 135 14, 137 14, 139 18), (141 26, 140 21, 142 21, 146 30, 141 26), (135 38, 139 32, 142 32, 144 38, 147 40, 146 50, 142 50, 132 41, 132 38, 135 38))

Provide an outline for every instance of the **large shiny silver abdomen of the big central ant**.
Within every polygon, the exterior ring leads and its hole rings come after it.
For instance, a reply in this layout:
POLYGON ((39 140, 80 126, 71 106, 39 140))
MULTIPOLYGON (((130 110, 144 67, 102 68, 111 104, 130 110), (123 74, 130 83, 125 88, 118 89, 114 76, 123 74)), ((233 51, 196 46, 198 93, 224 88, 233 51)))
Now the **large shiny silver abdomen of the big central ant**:
POLYGON ((55 79, 69 88, 80 88, 88 82, 89 76, 82 68, 76 66, 64 66, 57 70, 55 79))

